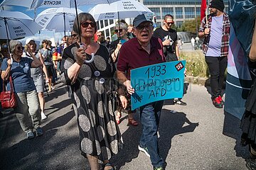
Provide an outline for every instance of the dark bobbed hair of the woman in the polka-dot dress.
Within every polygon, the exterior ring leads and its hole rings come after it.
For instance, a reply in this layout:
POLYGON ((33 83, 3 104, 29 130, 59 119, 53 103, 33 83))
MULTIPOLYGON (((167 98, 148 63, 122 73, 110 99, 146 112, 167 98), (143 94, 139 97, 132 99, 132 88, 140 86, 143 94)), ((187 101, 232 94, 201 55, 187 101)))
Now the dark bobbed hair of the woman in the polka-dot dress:
POLYGON ((75 33, 81 33, 81 29, 80 29, 80 23, 82 23, 82 21, 92 21, 92 23, 95 23, 95 33, 97 31, 97 24, 95 22, 95 19, 93 18, 93 16, 90 13, 79 13, 78 16, 75 17, 75 21, 74 21, 74 25, 73 25, 73 30, 75 31, 75 33), (78 17, 78 19, 77 19, 78 17), (78 23, 79 20, 79 23, 78 23))

